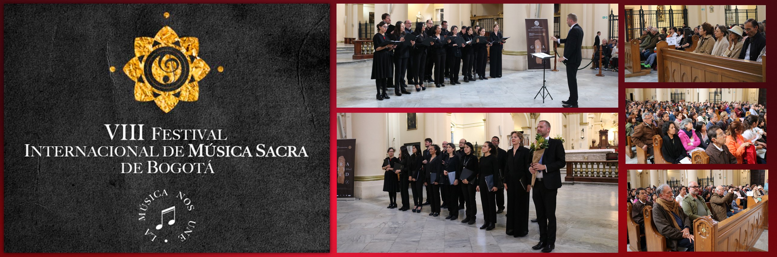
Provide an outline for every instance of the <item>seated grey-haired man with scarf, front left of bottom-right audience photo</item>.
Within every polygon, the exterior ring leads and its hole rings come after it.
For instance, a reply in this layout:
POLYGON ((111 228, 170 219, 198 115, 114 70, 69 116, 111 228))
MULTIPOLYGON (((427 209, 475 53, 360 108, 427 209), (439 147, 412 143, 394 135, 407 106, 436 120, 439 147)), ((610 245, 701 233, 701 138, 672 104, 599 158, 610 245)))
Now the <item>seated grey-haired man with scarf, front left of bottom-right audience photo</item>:
POLYGON ((653 223, 658 233, 667 238, 667 248, 678 251, 678 247, 693 252, 693 224, 674 201, 669 185, 662 184, 656 189, 658 199, 653 203, 653 223))

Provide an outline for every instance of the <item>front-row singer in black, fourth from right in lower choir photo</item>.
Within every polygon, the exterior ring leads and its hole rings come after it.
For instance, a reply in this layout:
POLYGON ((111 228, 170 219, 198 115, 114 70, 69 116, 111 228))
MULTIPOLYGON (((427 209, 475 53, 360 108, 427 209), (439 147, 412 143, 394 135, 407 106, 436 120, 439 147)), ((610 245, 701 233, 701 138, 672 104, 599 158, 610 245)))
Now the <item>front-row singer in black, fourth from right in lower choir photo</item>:
POLYGON ((478 158, 475 156, 475 151, 473 149, 475 148, 472 147, 472 143, 464 143, 464 157, 462 157, 462 165, 459 168, 459 172, 463 172, 464 168, 472 171, 472 175, 469 175, 469 177, 466 178, 461 176, 462 173, 459 173, 459 179, 461 179, 462 182, 462 193, 464 193, 464 203, 466 206, 464 211, 466 217, 462 220, 462 223, 470 225, 475 224, 475 215, 478 214, 475 200, 475 187, 477 186, 475 178, 478 176, 478 171, 480 170, 478 158))

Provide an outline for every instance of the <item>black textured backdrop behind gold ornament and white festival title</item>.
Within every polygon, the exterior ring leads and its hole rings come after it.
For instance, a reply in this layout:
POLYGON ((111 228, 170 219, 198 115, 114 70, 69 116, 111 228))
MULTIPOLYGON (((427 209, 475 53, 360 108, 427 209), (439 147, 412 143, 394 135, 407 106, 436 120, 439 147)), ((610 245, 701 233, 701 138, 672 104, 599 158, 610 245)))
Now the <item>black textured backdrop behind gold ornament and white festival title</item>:
POLYGON ((3 7, 5 252, 329 251, 329 5, 3 7), (136 102, 121 71, 134 38, 166 25, 199 38, 211 67, 200 99, 170 113, 136 102), (215 144, 304 145, 310 158, 24 157, 24 144, 209 143, 110 141, 104 123, 144 123, 147 137, 224 129, 215 144), (120 162, 208 159, 216 174, 120 174, 120 162), (193 200, 177 207, 176 229, 197 221, 187 241, 143 237, 159 214, 141 224, 138 203, 155 189, 193 200))

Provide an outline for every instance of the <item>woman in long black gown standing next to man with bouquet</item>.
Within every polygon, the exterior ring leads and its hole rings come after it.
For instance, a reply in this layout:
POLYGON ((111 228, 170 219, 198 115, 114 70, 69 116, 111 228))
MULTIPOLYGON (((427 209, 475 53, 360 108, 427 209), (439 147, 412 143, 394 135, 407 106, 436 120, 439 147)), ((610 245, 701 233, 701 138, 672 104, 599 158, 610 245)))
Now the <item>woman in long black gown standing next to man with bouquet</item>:
POLYGON ((504 189, 507 190, 507 227, 505 233, 514 238, 529 233, 529 190, 531 190, 531 155, 523 145, 524 134, 513 131, 504 163, 504 189), (521 181, 521 179, 524 179, 521 181))

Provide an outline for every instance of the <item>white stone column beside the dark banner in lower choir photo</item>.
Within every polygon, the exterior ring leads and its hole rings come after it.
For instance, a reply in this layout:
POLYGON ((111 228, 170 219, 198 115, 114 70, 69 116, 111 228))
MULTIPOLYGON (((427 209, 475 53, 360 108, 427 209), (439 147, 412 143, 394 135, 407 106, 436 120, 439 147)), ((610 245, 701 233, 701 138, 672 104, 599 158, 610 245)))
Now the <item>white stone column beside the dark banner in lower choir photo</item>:
POLYGON ((356 164, 354 166, 354 196, 373 198, 382 196, 383 170, 380 168, 388 149, 385 113, 351 113, 350 134, 356 138, 356 164))

